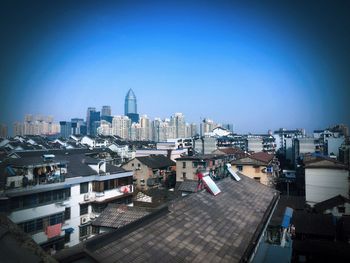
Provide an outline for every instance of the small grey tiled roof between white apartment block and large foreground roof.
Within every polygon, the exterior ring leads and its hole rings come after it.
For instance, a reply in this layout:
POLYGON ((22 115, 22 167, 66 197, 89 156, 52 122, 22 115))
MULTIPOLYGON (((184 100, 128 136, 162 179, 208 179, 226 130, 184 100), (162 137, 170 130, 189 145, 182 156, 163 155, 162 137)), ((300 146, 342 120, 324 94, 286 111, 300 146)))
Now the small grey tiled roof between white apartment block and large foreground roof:
POLYGON ((92 222, 93 226, 120 228, 146 215, 150 211, 141 207, 109 204, 100 216, 92 222))

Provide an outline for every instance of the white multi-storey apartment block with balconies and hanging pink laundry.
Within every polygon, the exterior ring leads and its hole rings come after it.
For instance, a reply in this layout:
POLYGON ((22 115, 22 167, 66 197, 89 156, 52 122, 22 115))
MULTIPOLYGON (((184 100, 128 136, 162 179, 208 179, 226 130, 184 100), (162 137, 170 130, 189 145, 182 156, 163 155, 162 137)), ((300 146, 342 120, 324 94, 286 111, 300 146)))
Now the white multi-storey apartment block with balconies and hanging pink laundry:
POLYGON ((1 212, 45 251, 89 238, 91 220, 133 193, 131 172, 81 152, 53 152, 16 153, 0 164, 1 212))

